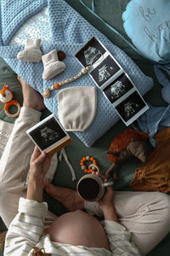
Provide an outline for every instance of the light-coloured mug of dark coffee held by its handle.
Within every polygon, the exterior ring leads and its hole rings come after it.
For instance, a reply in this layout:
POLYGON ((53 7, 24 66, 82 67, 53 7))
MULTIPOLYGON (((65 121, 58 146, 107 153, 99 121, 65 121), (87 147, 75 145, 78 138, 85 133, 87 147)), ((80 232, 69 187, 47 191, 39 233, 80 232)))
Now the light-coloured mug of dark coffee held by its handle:
POLYGON ((105 187, 113 182, 104 183, 103 179, 95 174, 87 174, 77 183, 77 193, 85 201, 99 201, 105 195, 105 187))

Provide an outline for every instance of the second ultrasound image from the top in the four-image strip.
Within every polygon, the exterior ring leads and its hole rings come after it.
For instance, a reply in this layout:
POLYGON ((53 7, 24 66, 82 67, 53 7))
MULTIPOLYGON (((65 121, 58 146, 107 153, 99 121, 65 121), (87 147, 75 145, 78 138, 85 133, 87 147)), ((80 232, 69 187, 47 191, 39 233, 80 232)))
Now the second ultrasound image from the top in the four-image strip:
POLYGON ((94 81, 101 86, 111 76, 116 74, 118 70, 120 70, 120 67, 116 64, 116 61, 111 58, 111 55, 108 55, 90 74, 94 78, 94 81))

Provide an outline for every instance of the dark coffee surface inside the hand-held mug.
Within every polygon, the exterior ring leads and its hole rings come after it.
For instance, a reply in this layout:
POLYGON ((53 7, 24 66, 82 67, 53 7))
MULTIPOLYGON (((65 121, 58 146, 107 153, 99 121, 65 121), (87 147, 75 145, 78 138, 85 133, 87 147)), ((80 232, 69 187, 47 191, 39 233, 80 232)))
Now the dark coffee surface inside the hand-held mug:
POLYGON ((99 183, 92 177, 82 179, 77 189, 82 198, 87 201, 94 201, 99 195, 99 183))

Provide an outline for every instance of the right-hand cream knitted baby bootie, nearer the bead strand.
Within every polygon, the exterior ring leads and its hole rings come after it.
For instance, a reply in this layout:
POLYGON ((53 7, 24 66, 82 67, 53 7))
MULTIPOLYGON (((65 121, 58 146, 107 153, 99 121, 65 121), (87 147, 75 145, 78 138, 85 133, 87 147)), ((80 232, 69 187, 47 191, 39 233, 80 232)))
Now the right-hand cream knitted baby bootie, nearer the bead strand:
POLYGON ((48 52, 47 55, 42 55, 42 62, 44 65, 42 79, 44 80, 53 79, 54 76, 65 70, 65 63, 59 61, 56 49, 48 52))

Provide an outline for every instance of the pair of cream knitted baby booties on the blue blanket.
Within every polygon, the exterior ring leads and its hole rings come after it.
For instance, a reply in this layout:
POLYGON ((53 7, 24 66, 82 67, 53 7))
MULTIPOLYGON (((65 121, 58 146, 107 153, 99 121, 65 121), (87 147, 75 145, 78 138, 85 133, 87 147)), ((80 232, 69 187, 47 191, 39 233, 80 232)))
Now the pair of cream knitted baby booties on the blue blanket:
POLYGON ((51 50, 46 55, 42 55, 40 43, 41 39, 26 39, 25 49, 18 53, 17 59, 31 62, 39 62, 42 60, 44 66, 42 79, 53 79, 54 76, 65 70, 65 63, 59 61, 56 49, 51 50))

